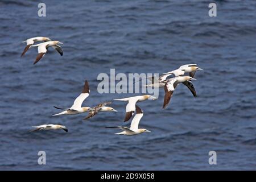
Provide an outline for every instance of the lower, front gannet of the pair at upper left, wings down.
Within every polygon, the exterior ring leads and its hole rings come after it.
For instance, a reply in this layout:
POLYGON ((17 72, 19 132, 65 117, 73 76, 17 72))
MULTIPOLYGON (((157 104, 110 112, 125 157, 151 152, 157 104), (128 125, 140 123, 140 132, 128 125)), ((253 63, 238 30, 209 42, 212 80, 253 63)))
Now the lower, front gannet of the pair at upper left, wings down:
POLYGON ((61 43, 59 41, 48 41, 48 42, 32 45, 31 47, 38 47, 38 56, 36 56, 36 60, 35 60, 34 64, 38 63, 38 61, 40 59, 42 59, 42 57, 46 54, 47 49, 49 47, 54 48, 62 56, 63 55, 62 48, 57 44, 63 44, 63 43, 61 43))

